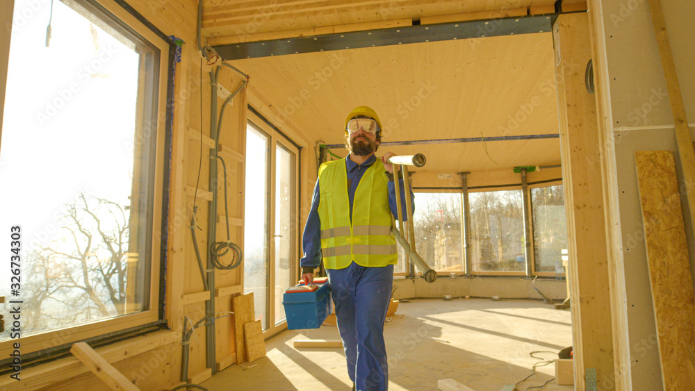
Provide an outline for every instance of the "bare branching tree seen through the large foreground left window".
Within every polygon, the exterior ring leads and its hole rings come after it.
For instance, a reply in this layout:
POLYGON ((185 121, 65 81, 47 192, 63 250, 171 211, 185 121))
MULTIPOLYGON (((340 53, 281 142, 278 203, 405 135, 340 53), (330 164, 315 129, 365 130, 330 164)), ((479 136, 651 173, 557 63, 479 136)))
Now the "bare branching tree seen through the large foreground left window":
POLYGON ((80 194, 65 210, 63 235, 26 256, 22 310, 30 333, 142 309, 128 300, 138 268, 129 265, 126 206, 80 194))

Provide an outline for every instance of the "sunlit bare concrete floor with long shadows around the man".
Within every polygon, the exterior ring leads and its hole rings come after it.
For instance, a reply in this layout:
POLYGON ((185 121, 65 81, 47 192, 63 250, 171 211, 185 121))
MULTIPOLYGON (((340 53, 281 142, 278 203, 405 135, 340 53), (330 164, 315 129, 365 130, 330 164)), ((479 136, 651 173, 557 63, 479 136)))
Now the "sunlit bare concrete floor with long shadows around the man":
MULTIPOLYGON (((389 390, 437 390, 452 378, 476 391, 498 391, 529 376, 534 363, 572 344, 569 310, 536 300, 410 299, 386 323, 389 390), (530 357, 532 351, 539 358, 530 357)), ((295 339, 339 340, 338 329, 284 331, 265 341, 267 356, 232 365, 202 383, 208 390, 350 390, 343 349, 293 347, 295 339)), ((555 376, 552 363, 517 386, 555 376)), ((534 388, 533 390, 540 390, 534 388)), ((542 390, 573 390, 551 381, 542 390)))

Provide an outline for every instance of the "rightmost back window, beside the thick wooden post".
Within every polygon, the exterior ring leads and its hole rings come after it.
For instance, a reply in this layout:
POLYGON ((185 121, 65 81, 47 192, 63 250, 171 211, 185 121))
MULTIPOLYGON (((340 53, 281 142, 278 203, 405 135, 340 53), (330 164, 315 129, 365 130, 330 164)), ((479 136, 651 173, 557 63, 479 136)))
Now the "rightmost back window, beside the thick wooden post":
POLYGON ((562 251, 567 251, 562 185, 531 189, 531 205, 535 272, 555 273, 556 267, 562 267, 562 251))

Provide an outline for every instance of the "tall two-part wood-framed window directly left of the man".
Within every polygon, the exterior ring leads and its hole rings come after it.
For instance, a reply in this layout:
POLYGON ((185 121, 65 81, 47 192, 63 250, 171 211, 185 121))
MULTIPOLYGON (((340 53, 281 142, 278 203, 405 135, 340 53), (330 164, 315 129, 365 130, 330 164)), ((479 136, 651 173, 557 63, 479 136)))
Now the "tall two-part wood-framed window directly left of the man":
POLYGON ((284 327, 282 297, 297 283, 297 148, 256 115, 247 126, 244 290, 263 330, 284 327), (271 288, 272 287, 272 288, 271 288))

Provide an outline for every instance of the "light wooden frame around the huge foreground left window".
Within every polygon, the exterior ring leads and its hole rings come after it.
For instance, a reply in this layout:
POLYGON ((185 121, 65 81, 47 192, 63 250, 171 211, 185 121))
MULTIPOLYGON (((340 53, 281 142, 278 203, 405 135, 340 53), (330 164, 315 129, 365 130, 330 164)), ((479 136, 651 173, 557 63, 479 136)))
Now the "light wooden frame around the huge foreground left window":
MULTIPOLYGON (((12 1, 14 3, 14 1, 12 1)), ((166 254, 162 252, 163 228, 167 226, 167 222, 163 217, 164 208, 168 208, 165 204, 165 188, 169 185, 169 174, 165 172, 167 162, 170 160, 170 152, 167 152, 167 145, 170 144, 171 135, 167 134, 167 128, 170 128, 173 118, 169 110, 167 110, 167 101, 173 96, 173 89, 170 88, 170 81, 173 77, 172 67, 175 44, 172 40, 166 38, 161 31, 147 22, 141 15, 132 9, 126 10, 122 3, 115 0, 83 0, 81 5, 87 4, 90 8, 95 8, 99 13, 97 17, 111 17, 113 22, 120 24, 131 33, 140 35, 142 40, 149 42, 152 46, 159 49, 159 67, 157 70, 156 82, 156 109, 152 113, 152 117, 156 118, 156 127, 150 128, 149 132, 154 132, 154 155, 151 157, 150 164, 154 165, 154 175, 152 178, 152 199, 149 202, 152 205, 152 210, 147 213, 152 217, 149 220, 149 242, 150 250, 150 272, 149 272, 149 303, 148 309, 138 313, 129 315, 120 315, 106 319, 97 319, 92 322, 85 322, 75 326, 67 326, 49 331, 42 331, 32 335, 21 337, 22 359, 27 360, 35 356, 43 356, 51 351, 59 351, 67 349, 74 342, 78 341, 93 341, 111 337, 117 334, 129 333, 136 331, 139 328, 147 328, 163 324, 164 308, 160 295, 163 294, 161 289, 164 279, 162 278, 161 265, 165 262, 166 254)), ((13 15, 6 15, 8 22, 12 22, 13 15)), ((0 20, 0 22, 6 22, 0 20)), ((2 48, 3 50, 6 48, 2 48)), ((3 53, 4 54, 4 53, 3 53)), ((9 64, 9 56, 0 56, 0 67, 6 72, 9 64)), ((154 92, 152 90, 151 92, 154 92)), ((4 106, 6 97, 1 103, 4 106)), ((138 100, 141 98, 139 97, 138 100)), ((1 124, 0 124, 1 126, 1 124)), ((136 128, 137 131, 145 133, 147 128, 136 128)), ((145 134, 147 136, 147 134, 145 134)), ((1 137, 1 129, 0 129, 1 137)), ((18 340, 9 339, 0 342, 0 355, 5 358, 14 350, 13 344, 18 340)), ((5 361, 5 360, 2 360, 5 361)), ((0 361, 0 362, 2 362, 0 361)))

